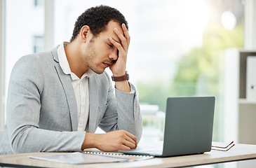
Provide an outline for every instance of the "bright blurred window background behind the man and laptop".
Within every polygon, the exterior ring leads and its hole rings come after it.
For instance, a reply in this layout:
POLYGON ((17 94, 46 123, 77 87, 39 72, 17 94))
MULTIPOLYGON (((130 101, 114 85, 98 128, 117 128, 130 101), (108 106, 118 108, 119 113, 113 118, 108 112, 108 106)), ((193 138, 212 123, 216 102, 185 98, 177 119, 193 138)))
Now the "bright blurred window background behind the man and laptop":
POLYGON ((76 18, 100 4, 128 20, 127 69, 143 113, 142 141, 162 139, 167 97, 208 95, 217 98, 213 140, 224 141, 225 50, 256 50, 253 0, 0 0, 0 130, 13 64, 69 41, 76 18))

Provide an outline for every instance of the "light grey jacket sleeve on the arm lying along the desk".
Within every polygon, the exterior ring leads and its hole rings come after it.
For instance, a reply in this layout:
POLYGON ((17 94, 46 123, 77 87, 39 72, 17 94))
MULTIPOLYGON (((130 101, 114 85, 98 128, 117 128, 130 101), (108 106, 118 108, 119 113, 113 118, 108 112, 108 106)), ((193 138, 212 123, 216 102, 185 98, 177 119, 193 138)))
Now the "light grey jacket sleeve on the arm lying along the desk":
MULTIPOLYGON (((45 130, 39 126, 44 76, 34 57, 14 66, 8 87, 6 126, 13 153, 81 151, 85 132, 45 130)), ((55 111, 51 111, 55 113, 55 111)), ((52 118, 48 118, 50 123, 52 118)))

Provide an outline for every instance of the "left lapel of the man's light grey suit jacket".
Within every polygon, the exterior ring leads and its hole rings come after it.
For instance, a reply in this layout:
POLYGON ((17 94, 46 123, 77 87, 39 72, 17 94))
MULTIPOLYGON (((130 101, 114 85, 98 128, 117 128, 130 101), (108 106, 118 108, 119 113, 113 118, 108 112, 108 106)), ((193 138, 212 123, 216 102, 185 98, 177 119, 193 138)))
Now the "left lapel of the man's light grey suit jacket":
MULTIPOLYGON (((52 53, 53 53, 53 59, 55 59, 55 62, 59 63, 57 48, 53 49, 52 53)), ((66 95, 67 104, 69 106, 69 113, 70 113, 71 123, 72 123, 72 130, 77 131, 78 115, 77 115, 76 97, 75 97, 75 94, 74 94, 74 89, 73 89, 73 86, 72 86, 72 82, 70 80, 70 76, 66 75, 62 71, 62 69, 60 67, 60 64, 55 64, 55 69, 58 73, 58 76, 59 76, 60 81, 62 83, 63 90, 64 90, 65 95, 66 95)))

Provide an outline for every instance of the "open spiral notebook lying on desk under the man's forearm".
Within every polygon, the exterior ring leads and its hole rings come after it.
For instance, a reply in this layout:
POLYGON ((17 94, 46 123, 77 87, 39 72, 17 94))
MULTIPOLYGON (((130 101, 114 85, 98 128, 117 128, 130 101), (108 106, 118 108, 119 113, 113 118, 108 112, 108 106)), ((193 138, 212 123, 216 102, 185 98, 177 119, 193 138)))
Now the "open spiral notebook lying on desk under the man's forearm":
POLYGON ((104 153, 104 152, 76 152, 63 153, 56 155, 39 155, 28 156, 32 159, 47 160, 50 162, 62 162, 68 164, 89 164, 89 163, 104 163, 104 162, 132 162, 135 160, 147 160, 154 158, 153 156, 145 155, 123 155, 119 153, 104 153))

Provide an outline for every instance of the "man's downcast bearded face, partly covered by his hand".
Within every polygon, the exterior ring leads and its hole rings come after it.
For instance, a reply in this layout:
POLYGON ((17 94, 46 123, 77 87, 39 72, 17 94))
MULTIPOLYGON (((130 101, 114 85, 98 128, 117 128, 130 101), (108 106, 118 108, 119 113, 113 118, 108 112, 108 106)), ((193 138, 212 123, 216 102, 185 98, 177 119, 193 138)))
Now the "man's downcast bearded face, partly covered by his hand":
POLYGON ((119 23, 110 21, 105 31, 88 39, 83 57, 88 67, 95 73, 103 73, 107 67, 118 59, 118 50, 109 41, 109 37, 112 37, 115 41, 121 43, 119 37, 114 33, 114 28, 123 32, 119 23))

